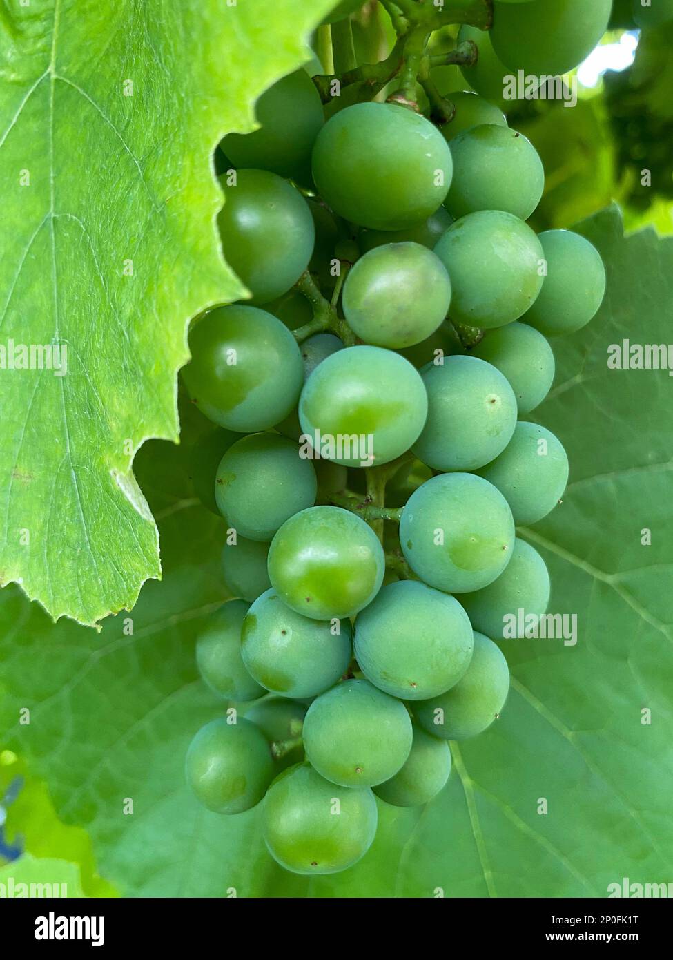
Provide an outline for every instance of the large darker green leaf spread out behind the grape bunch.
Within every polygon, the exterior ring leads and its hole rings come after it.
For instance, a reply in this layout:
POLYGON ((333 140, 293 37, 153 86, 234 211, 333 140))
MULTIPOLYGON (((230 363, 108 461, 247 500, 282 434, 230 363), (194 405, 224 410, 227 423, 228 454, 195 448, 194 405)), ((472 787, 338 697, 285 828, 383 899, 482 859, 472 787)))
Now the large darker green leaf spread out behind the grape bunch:
POLYGON ((183 785, 190 737, 222 709, 197 680, 194 639, 223 596, 224 530, 183 486, 179 449, 156 442, 138 458, 166 576, 143 589, 132 636, 121 616, 101 637, 52 626, 6 591, 0 740, 30 758, 60 818, 88 829, 122 893, 606 897, 624 877, 671 879, 670 379, 610 371, 607 348, 665 343, 673 240, 624 237, 616 208, 580 229, 606 261, 608 293, 589 327, 555 342, 557 385, 538 413, 568 449, 571 481, 563 505, 522 531, 549 563, 551 611, 577 614, 578 642, 503 641, 513 689, 502 717, 454 745, 432 804, 379 804, 373 848, 351 870, 285 873, 264 851, 257 810, 218 817, 183 785), (18 724, 20 708, 30 724, 18 724))

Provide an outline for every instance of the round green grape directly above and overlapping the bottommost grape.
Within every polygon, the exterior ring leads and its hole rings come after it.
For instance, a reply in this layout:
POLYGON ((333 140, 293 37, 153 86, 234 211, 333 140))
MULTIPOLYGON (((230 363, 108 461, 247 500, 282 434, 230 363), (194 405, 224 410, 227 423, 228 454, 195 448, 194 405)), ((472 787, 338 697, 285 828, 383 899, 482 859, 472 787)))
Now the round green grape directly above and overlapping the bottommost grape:
POLYGON ((412 726, 399 700, 366 680, 347 680, 317 697, 303 722, 311 765, 340 786, 374 786, 409 756, 412 726))

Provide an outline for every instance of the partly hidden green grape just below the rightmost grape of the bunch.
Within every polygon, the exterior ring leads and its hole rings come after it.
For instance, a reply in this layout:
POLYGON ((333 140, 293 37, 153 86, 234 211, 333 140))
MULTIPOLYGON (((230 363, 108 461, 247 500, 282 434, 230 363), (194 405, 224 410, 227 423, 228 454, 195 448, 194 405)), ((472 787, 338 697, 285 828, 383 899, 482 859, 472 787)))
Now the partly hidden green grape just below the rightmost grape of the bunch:
POLYGON ((554 353, 538 330, 527 324, 508 324, 490 330, 470 351, 503 373, 517 397, 519 416, 528 414, 549 393, 554 380, 554 353))

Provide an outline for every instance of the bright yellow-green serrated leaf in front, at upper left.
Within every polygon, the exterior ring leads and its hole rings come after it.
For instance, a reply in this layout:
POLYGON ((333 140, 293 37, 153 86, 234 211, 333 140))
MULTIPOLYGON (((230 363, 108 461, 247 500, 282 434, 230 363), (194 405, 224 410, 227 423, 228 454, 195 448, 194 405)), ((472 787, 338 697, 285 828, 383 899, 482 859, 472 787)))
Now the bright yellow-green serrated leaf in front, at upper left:
POLYGON ((0 584, 55 619, 94 625, 160 575, 133 455, 178 437, 189 319, 246 295, 211 154, 328 6, 3 5, 0 584))

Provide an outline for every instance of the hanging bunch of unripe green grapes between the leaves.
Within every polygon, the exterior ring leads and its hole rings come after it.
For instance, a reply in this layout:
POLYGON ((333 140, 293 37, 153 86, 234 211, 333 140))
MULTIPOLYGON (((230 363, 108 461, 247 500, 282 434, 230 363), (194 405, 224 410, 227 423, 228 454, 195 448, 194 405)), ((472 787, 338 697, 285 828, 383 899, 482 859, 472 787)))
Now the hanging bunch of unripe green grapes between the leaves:
MULTIPOLYGON (((493 36, 514 58, 551 5, 495 6, 516 13, 493 36)), ((549 598, 516 525, 555 507, 568 462, 525 417, 554 377, 547 337, 589 323, 605 272, 582 236, 526 223, 533 145, 476 93, 448 99, 452 122, 375 101, 324 122, 299 71, 222 144, 223 249, 252 298, 193 325, 183 381, 215 424, 191 472, 225 519, 236 597, 197 661, 233 708, 196 734, 186 776, 210 810, 261 801, 269 851, 298 874, 359 860, 376 797, 444 787, 447 741, 505 704, 504 618, 549 598)))

